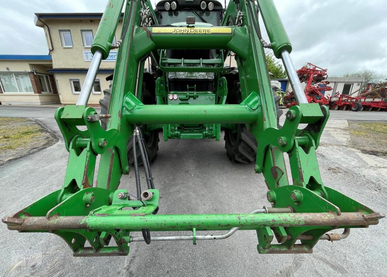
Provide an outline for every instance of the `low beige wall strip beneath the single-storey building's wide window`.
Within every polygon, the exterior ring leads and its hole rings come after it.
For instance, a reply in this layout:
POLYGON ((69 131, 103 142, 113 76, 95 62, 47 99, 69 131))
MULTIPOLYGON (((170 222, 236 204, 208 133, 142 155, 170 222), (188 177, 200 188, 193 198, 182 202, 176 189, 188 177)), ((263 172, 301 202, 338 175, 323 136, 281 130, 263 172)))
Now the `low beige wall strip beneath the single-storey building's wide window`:
POLYGON ((57 94, 0 94, 2 105, 43 105, 60 103, 57 94))

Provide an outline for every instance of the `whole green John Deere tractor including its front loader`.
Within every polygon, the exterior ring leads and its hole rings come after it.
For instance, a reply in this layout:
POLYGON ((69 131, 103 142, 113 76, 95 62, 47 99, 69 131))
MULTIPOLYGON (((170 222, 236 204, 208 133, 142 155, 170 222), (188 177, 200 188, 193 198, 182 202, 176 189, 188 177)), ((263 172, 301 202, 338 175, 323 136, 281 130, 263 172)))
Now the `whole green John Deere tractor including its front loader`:
POLYGON ((3 222, 10 230, 57 234, 74 256, 128 255, 135 242, 196 244, 226 239, 238 229, 257 232, 259 253, 312 253, 319 240, 340 240, 350 228, 378 224, 384 214, 324 185, 316 149, 329 111, 308 103, 291 50, 272 0, 231 0, 226 9, 212 0, 163 0, 156 9, 148 0, 109 0, 77 104, 55 113, 69 152, 62 188, 3 222), (124 5, 122 35, 112 44, 124 5), (259 15, 269 42, 262 38, 259 15), (98 113, 87 101, 101 61, 117 48, 112 85, 98 113), (286 112, 283 126, 265 48, 283 61, 299 103, 286 112), (230 55, 237 67, 224 66, 230 55), (159 133, 164 140, 219 140, 221 130, 229 159, 253 164, 264 175, 269 205, 238 214, 162 214, 163 192, 151 172, 159 133), (135 192, 118 188, 130 171, 135 192), (327 233, 338 228, 344 233, 327 233))

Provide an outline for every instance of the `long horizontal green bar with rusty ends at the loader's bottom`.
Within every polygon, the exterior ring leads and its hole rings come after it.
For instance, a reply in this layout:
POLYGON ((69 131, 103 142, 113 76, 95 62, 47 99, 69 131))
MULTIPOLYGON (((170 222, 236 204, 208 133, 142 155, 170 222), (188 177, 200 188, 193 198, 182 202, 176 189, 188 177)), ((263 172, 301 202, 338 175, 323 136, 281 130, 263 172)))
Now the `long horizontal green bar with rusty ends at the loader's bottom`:
POLYGON ((18 219, 5 217, 8 229, 17 231, 61 230, 61 229, 127 229, 140 231, 190 231, 227 230, 230 227, 257 229, 257 227, 291 226, 368 226, 378 224, 385 215, 361 212, 334 213, 289 213, 289 214, 191 214, 191 215, 88 215, 46 217, 26 217, 18 219))

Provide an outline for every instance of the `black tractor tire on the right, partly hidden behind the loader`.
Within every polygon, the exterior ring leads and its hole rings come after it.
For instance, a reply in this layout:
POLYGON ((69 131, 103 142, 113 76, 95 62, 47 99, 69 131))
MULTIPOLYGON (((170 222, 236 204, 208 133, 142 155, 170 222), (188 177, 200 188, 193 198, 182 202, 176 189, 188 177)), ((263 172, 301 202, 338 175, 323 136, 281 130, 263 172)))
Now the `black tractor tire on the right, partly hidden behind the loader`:
MULTIPOLYGON (((281 96, 273 96, 274 104, 277 110, 277 127, 281 128, 281 125, 279 125, 279 117, 283 114, 283 111, 279 109, 281 96)), ((227 104, 241 103, 241 89, 240 82, 238 82, 238 80, 234 82, 233 89, 227 100, 227 104)), ((224 148, 226 148, 228 158, 230 161, 240 162, 243 164, 255 162, 257 157, 257 140, 253 134, 247 130, 245 124, 238 124, 236 126, 238 130, 236 133, 233 133, 230 129, 224 130, 224 148)))

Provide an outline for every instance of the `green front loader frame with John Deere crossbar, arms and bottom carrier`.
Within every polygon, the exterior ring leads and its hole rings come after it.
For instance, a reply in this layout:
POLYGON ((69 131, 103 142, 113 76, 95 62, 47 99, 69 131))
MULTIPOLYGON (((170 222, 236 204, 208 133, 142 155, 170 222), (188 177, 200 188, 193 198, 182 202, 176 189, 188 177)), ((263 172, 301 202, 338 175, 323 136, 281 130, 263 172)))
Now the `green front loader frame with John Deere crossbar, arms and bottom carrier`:
MULTIPOLYGON (((66 241, 74 256, 111 256, 128 255, 129 243, 145 240, 145 237, 133 236, 132 232, 144 230, 189 231, 192 234, 183 236, 154 236, 152 233, 148 240, 192 240, 194 244, 197 240, 228 238, 238 229, 255 230, 259 253, 311 253, 320 239, 339 240, 348 236, 348 228, 378 224, 384 214, 324 185, 315 152, 329 111, 325 106, 307 103, 289 56, 291 44, 272 0, 259 0, 258 8, 270 45, 260 36, 258 10, 252 0, 230 1, 221 26, 179 27, 178 31, 170 26, 140 26, 139 14, 152 15, 152 22, 156 22, 148 0, 109 0, 92 44, 94 59, 77 105, 67 105, 55 113, 69 152, 63 186, 14 215, 4 217, 8 228, 57 234, 66 241), (112 48, 125 2, 123 38, 113 46, 119 49, 109 114, 102 115, 87 107, 87 99, 99 64, 112 48), (242 15, 243 21, 240 20, 242 15), (227 26, 226 19, 230 17, 238 19, 235 21, 240 22, 238 26, 227 26), (274 55, 283 60, 299 103, 288 110, 281 128, 277 127, 264 46, 272 48, 274 55), (224 53, 235 53, 240 104, 226 104, 227 80, 221 77, 217 67, 205 69, 218 78, 216 97, 219 101, 216 104, 164 104, 168 97, 166 72, 177 72, 176 68, 168 68, 168 64, 176 60, 165 60, 161 55, 166 49, 219 50, 221 55, 217 60, 204 62, 213 64, 219 64, 219 58, 226 59, 224 53), (144 61, 149 56, 160 63, 158 68, 163 72, 156 80, 157 105, 140 101, 144 61), (100 119, 108 119, 107 130, 101 127, 100 119), (127 143, 134 130, 138 132, 136 126, 146 125, 147 130, 166 132, 168 124, 213 124, 218 129, 217 139, 221 124, 230 129, 236 129, 236 124, 244 125, 258 142, 254 170, 265 177, 266 197, 271 206, 248 214, 160 215, 157 214, 158 190, 149 188, 147 198, 138 199, 130 191, 118 189, 121 176, 130 171, 127 143), (306 127, 301 128, 302 124, 306 127), (291 178, 286 171, 284 153, 289 156, 291 178), (98 155, 101 157, 93 185, 98 155), (338 228, 345 228, 342 235, 326 234, 338 228), (212 233, 224 230, 228 232, 212 233), (197 231, 210 233, 199 235, 197 231), (273 243, 274 236, 277 243, 273 243), (116 246, 110 245, 111 239, 116 246), (301 242, 297 244, 298 239, 301 242), (85 246, 86 242, 90 246, 85 246)), ((186 64, 196 62, 188 60, 186 64)), ((201 65, 203 60, 199 62, 201 65)), ((195 97, 197 92, 187 89, 188 99, 191 94, 195 97)))

